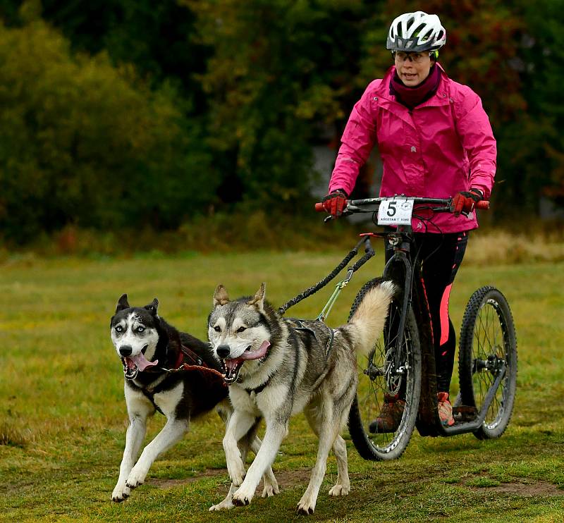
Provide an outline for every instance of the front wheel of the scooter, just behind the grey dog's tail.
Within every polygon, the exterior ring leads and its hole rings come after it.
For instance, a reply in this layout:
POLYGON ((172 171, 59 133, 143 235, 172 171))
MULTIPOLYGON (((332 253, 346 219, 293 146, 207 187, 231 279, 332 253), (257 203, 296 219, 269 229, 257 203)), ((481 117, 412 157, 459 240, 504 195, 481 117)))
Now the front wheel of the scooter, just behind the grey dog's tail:
MULTIPOLYGON (((349 319, 362 302, 364 295, 382 282, 375 278, 360 289, 349 319)), ((402 300, 394 298, 384 327, 384 333, 376 341, 368 357, 359 356, 359 383, 357 394, 350 408, 348 428, 350 437, 365 460, 395 460, 402 455, 409 443, 419 406, 421 391, 421 349, 415 316, 407 312, 401 355, 396 357, 398 324, 402 300), (384 405, 385 396, 405 400, 405 407, 395 431, 379 432, 374 420, 384 405), (371 431, 372 424, 372 431, 371 431)))

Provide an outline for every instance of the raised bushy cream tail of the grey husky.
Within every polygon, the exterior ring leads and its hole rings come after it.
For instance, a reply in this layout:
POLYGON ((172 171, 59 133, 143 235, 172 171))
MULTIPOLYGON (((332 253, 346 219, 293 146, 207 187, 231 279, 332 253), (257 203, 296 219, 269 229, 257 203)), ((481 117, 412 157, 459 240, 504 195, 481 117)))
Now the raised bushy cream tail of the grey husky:
POLYGON ((362 298, 355 314, 350 319, 347 330, 353 336, 355 349, 368 355, 374 348, 388 317, 390 302, 396 285, 382 281, 372 287, 362 298))

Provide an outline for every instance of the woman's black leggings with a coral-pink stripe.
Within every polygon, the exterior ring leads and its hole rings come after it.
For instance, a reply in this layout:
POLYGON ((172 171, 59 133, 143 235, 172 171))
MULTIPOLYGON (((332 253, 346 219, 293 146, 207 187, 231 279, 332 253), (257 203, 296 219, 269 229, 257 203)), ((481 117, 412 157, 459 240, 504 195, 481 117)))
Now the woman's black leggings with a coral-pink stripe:
MULTIPOLYGON (((411 255, 419 253, 422 260, 423 281, 429 309, 435 347, 437 392, 448 392, 453 375, 456 335, 448 316, 448 299, 458 267, 466 251, 468 231, 462 233, 414 233, 415 245, 411 255)), ((386 262, 393 255, 393 247, 386 245, 386 262)))

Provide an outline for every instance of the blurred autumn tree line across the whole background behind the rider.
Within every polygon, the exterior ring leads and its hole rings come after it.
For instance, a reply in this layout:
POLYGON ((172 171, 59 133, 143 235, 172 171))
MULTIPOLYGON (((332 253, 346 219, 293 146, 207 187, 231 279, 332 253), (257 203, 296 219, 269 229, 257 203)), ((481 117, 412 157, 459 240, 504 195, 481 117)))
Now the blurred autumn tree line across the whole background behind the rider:
POLYGON ((336 152, 391 66, 391 20, 417 8, 490 116, 496 215, 563 203, 562 0, 4 0, 1 234, 309 213, 312 147, 336 152))

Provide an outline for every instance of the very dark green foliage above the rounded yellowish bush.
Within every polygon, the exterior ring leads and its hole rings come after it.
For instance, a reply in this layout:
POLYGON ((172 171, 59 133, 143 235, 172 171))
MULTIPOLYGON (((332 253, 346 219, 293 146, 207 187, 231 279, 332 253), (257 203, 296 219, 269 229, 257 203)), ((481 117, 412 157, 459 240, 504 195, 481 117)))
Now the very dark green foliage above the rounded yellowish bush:
POLYGON ((73 49, 90 54, 106 51, 112 63, 134 64, 154 86, 173 82, 191 101, 192 110, 204 109, 194 75, 204 70, 207 52, 192 41, 195 16, 178 1, 43 0, 42 4, 45 20, 63 31, 73 49))

